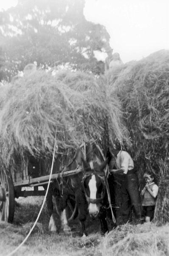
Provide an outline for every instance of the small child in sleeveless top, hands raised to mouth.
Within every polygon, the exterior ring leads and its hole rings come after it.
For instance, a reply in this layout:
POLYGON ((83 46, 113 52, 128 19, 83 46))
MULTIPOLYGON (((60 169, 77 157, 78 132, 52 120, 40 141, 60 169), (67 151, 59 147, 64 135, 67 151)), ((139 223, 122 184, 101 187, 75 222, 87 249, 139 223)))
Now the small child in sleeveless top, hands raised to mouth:
POLYGON ((155 202, 158 194, 158 186, 154 182, 153 174, 145 173, 144 180, 146 181, 146 186, 141 191, 143 195, 143 214, 145 216, 145 221, 150 222, 154 218, 155 202))

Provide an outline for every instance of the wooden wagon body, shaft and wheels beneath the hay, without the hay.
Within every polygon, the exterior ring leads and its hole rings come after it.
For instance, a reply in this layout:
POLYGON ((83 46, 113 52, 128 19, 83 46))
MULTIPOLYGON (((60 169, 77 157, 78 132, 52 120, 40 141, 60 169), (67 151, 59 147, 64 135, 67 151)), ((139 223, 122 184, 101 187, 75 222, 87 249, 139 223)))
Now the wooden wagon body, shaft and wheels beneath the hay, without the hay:
MULTIPOLYGON (((54 162, 51 183, 82 171, 82 168, 67 170, 70 163, 68 157, 58 157, 54 162)), ((14 218, 15 198, 27 196, 44 196, 49 181, 51 161, 44 158, 26 156, 18 158, 17 166, 11 166, 10 171, 0 170, 0 221, 12 222, 14 218), (16 169, 17 168, 17 169, 16 169)), ((55 198, 56 213, 59 215, 59 199, 55 198)), ((75 197, 70 196, 66 208, 68 221, 77 214, 75 197)))

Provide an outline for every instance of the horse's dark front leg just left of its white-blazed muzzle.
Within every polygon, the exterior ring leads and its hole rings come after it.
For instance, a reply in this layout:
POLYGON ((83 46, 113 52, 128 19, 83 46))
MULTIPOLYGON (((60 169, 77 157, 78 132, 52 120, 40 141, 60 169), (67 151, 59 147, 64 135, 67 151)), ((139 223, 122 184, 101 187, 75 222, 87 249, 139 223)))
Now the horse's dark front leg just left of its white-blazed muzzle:
POLYGON ((78 218, 80 221, 80 236, 87 236, 86 228, 85 228, 85 221, 87 216, 87 202, 85 200, 85 195, 82 192, 82 190, 78 189, 75 193, 76 196, 76 202, 77 202, 77 208, 78 208, 78 218))

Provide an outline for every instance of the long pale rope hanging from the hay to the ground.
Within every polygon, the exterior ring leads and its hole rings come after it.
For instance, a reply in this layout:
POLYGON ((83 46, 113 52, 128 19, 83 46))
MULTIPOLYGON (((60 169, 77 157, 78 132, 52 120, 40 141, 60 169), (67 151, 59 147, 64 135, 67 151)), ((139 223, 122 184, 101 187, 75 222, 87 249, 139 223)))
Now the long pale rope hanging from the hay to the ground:
POLYGON ((45 198, 43 199, 43 203, 42 203, 42 206, 40 208, 40 211, 39 211, 39 214, 37 216, 37 219, 36 221, 34 222, 34 225, 31 227, 31 230, 29 231, 28 235, 25 237, 25 239, 22 241, 22 243, 20 245, 18 245, 17 248, 15 248, 11 253, 8 253, 6 256, 11 256, 13 255, 24 243, 25 241, 28 239, 28 237, 31 235, 32 231, 34 230, 34 227, 36 226, 37 224, 37 221, 40 217, 40 214, 42 212, 42 209, 44 207, 44 204, 45 204, 45 200, 46 200, 46 196, 48 194, 48 190, 49 190, 49 186, 50 186, 50 182, 51 182, 51 175, 52 175, 52 171, 53 171, 53 167, 54 167, 54 157, 55 157, 55 148, 56 148, 56 133, 55 133, 55 143, 54 143, 54 152, 53 152, 53 158, 52 158, 52 165, 51 165, 51 173, 50 173, 50 176, 49 176, 49 181, 48 181, 48 187, 47 187, 47 190, 46 190, 46 193, 45 193, 45 198))

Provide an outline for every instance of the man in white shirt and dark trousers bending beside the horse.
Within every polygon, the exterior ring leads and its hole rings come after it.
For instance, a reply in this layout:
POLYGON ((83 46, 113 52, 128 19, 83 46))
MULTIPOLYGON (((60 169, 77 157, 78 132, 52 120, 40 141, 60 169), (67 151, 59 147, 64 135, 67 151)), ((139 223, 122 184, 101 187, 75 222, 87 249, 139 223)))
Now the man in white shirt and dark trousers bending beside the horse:
MULTIPOLYGON (((110 172, 114 176, 115 214, 117 224, 131 221, 132 207, 136 222, 141 222, 141 197, 134 163, 127 151, 113 148, 110 160, 110 172)), ((109 157, 110 159, 110 157, 109 157)))

